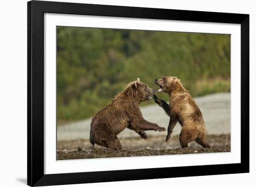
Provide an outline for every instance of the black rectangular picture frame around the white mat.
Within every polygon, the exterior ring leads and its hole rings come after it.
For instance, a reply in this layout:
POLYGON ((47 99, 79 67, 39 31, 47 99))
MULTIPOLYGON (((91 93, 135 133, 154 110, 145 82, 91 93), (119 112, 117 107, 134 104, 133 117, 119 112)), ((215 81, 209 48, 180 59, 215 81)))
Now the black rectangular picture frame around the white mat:
POLYGON ((249 14, 27 2, 27 185, 47 186, 249 172, 249 14), (241 163, 44 174, 44 13, 241 24, 241 163))

